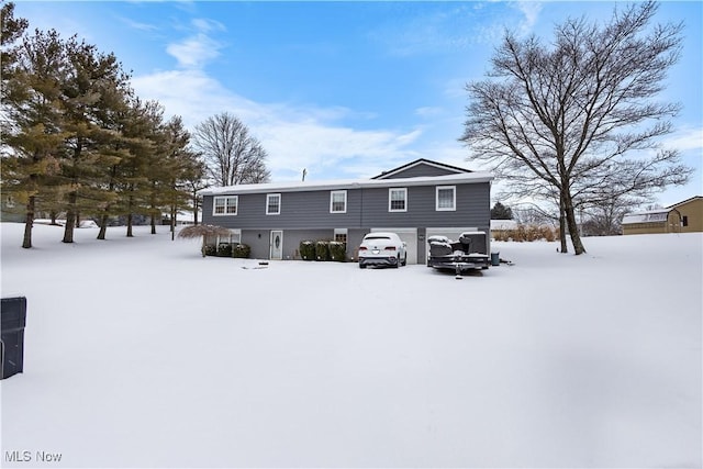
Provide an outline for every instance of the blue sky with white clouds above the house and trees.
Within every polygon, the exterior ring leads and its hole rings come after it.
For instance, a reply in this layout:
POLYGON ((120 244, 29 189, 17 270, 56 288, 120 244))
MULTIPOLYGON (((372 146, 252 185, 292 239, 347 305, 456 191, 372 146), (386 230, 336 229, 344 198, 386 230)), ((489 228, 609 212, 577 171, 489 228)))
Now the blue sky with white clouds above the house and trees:
MULTIPOLYGON (((507 29, 549 38, 568 16, 603 21, 613 1, 18 1, 30 27, 113 52, 143 99, 192 129, 230 112, 269 154, 274 181, 366 178, 416 158, 481 169, 457 142, 466 82, 481 79, 507 29)), ((662 2, 685 24, 662 99, 684 109, 666 142, 696 172, 658 196, 703 194, 703 5, 662 2)))

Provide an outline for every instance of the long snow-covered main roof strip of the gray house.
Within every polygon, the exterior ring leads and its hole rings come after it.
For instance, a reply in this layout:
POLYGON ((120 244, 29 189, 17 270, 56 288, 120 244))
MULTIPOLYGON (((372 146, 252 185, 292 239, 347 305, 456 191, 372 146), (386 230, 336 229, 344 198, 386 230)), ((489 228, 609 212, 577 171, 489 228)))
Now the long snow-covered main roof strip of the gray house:
POLYGON ((201 190, 202 196, 226 196, 239 193, 266 192, 305 192, 313 190, 344 190, 361 188, 391 188, 428 185, 457 185, 471 182, 489 182, 493 180, 490 172, 461 172, 446 176, 425 176, 397 179, 338 179, 327 181, 267 182, 258 185, 237 185, 201 190))

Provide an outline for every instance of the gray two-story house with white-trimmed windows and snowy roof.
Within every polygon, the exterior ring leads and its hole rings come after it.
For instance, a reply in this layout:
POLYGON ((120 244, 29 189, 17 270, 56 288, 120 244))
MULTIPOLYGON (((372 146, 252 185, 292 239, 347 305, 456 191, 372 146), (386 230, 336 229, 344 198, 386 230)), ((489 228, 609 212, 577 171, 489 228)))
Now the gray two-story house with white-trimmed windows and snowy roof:
POLYGON ((391 231, 406 243, 408 263, 424 264, 432 235, 483 231, 488 243, 492 179, 417 159, 371 179, 211 188, 201 191, 203 223, 230 228, 259 259, 295 259, 302 241, 334 239, 356 260, 364 235, 391 231))

